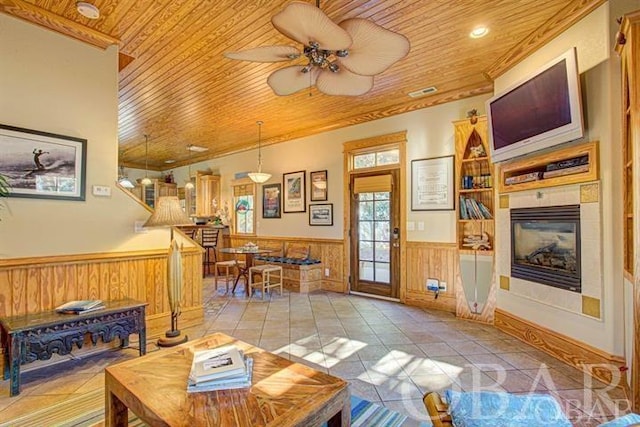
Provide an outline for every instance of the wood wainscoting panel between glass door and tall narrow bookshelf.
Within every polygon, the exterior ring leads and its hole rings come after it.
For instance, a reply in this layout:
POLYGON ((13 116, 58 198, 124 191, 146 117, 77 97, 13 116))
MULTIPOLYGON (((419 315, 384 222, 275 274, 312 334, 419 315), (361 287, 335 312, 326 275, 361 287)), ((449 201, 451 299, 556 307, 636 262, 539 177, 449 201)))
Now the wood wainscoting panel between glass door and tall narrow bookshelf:
POLYGON ((407 305, 456 312, 455 283, 458 249, 455 243, 407 242, 407 286, 401 300, 407 305), (447 283, 436 298, 426 289, 427 279, 447 283))

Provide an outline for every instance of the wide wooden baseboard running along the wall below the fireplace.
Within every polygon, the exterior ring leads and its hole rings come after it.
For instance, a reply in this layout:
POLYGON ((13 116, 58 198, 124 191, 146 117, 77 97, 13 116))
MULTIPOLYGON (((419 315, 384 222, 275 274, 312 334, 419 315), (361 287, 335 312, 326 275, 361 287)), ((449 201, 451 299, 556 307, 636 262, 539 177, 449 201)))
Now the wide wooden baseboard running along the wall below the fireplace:
POLYGON ((622 387, 626 391, 629 389, 626 375, 621 371, 625 366, 622 356, 607 354, 499 308, 495 311, 495 326, 606 384, 622 387))

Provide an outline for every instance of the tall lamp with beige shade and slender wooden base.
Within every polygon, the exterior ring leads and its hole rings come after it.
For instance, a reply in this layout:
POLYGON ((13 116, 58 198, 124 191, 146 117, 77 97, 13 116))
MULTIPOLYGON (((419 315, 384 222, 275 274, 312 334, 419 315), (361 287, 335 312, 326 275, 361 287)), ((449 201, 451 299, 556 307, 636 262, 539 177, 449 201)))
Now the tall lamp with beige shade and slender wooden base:
POLYGON ((158 339, 158 346, 172 347, 182 344, 188 337, 181 336, 178 329, 178 316, 180 316, 180 298, 182 296, 182 254, 178 243, 173 238, 174 225, 192 224, 187 214, 180 207, 180 201, 176 196, 161 196, 157 206, 143 227, 170 227, 171 245, 167 259, 167 290, 169 292, 169 306, 171 307, 171 330, 164 337, 158 339))

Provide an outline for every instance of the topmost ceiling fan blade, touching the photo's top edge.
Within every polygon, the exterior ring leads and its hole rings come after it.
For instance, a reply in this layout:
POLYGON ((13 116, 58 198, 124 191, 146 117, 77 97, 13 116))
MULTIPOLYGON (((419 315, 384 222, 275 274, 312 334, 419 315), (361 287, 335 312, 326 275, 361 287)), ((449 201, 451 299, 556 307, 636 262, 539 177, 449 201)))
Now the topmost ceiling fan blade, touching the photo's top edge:
POLYGON ((347 49, 351 45, 349 34, 309 3, 289 3, 273 15, 271 23, 282 34, 305 46, 311 41, 325 50, 347 49))

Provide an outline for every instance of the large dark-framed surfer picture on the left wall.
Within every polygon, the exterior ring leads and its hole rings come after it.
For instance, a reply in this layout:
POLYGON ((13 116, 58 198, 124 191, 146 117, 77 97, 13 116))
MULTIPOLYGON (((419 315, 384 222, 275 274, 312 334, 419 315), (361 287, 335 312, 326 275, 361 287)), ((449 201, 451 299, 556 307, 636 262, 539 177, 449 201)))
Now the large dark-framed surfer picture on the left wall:
POLYGON ((84 200, 87 140, 0 125, 0 174, 9 196, 84 200))

